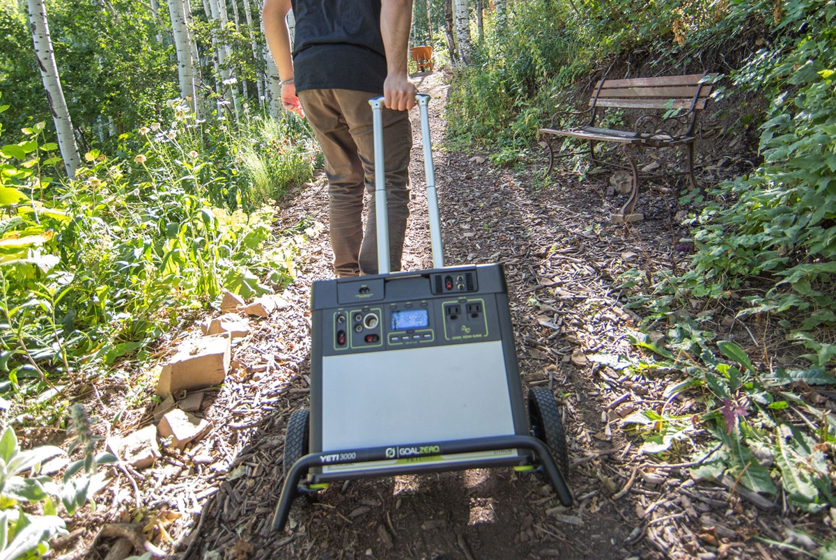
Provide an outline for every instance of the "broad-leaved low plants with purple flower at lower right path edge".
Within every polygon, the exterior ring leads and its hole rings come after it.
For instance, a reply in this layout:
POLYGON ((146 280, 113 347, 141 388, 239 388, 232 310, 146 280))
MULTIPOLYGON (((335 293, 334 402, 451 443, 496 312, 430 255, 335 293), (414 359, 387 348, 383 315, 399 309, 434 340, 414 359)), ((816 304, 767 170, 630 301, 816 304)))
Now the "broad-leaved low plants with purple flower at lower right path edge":
POLYGON ((712 436, 714 451, 697 451, 692 469, 697 478, 731 476, 750 490, 775 494, 780 481, 788 501, 804 512, 818 512, 836 505, 831 477, 836 475, 828 459, 836 449, 833 416, 818 410, 793 392, 799 386, 834 384, 836 378, 819 366, 809 369, 757 369, 737 344, 716 343, 711 333, 688 320, 670 329, 670 350, 660 349, 636 334, 633 342, 657 354, 655 361, 633 367, 651 374, 679 374, 681 379, 665 389, 665 400, 688 395, 705 407, 696 417, 674 417, 655 410, 636 412, 624 419, 644 436, 645 453, 672 450, 675 440, 691 440, 696 446, 696 426, 712 436), (792 414, 791 414, 792 413, 792 414), (807 427, 793 425, 793 417, 813 418, 807 427))

